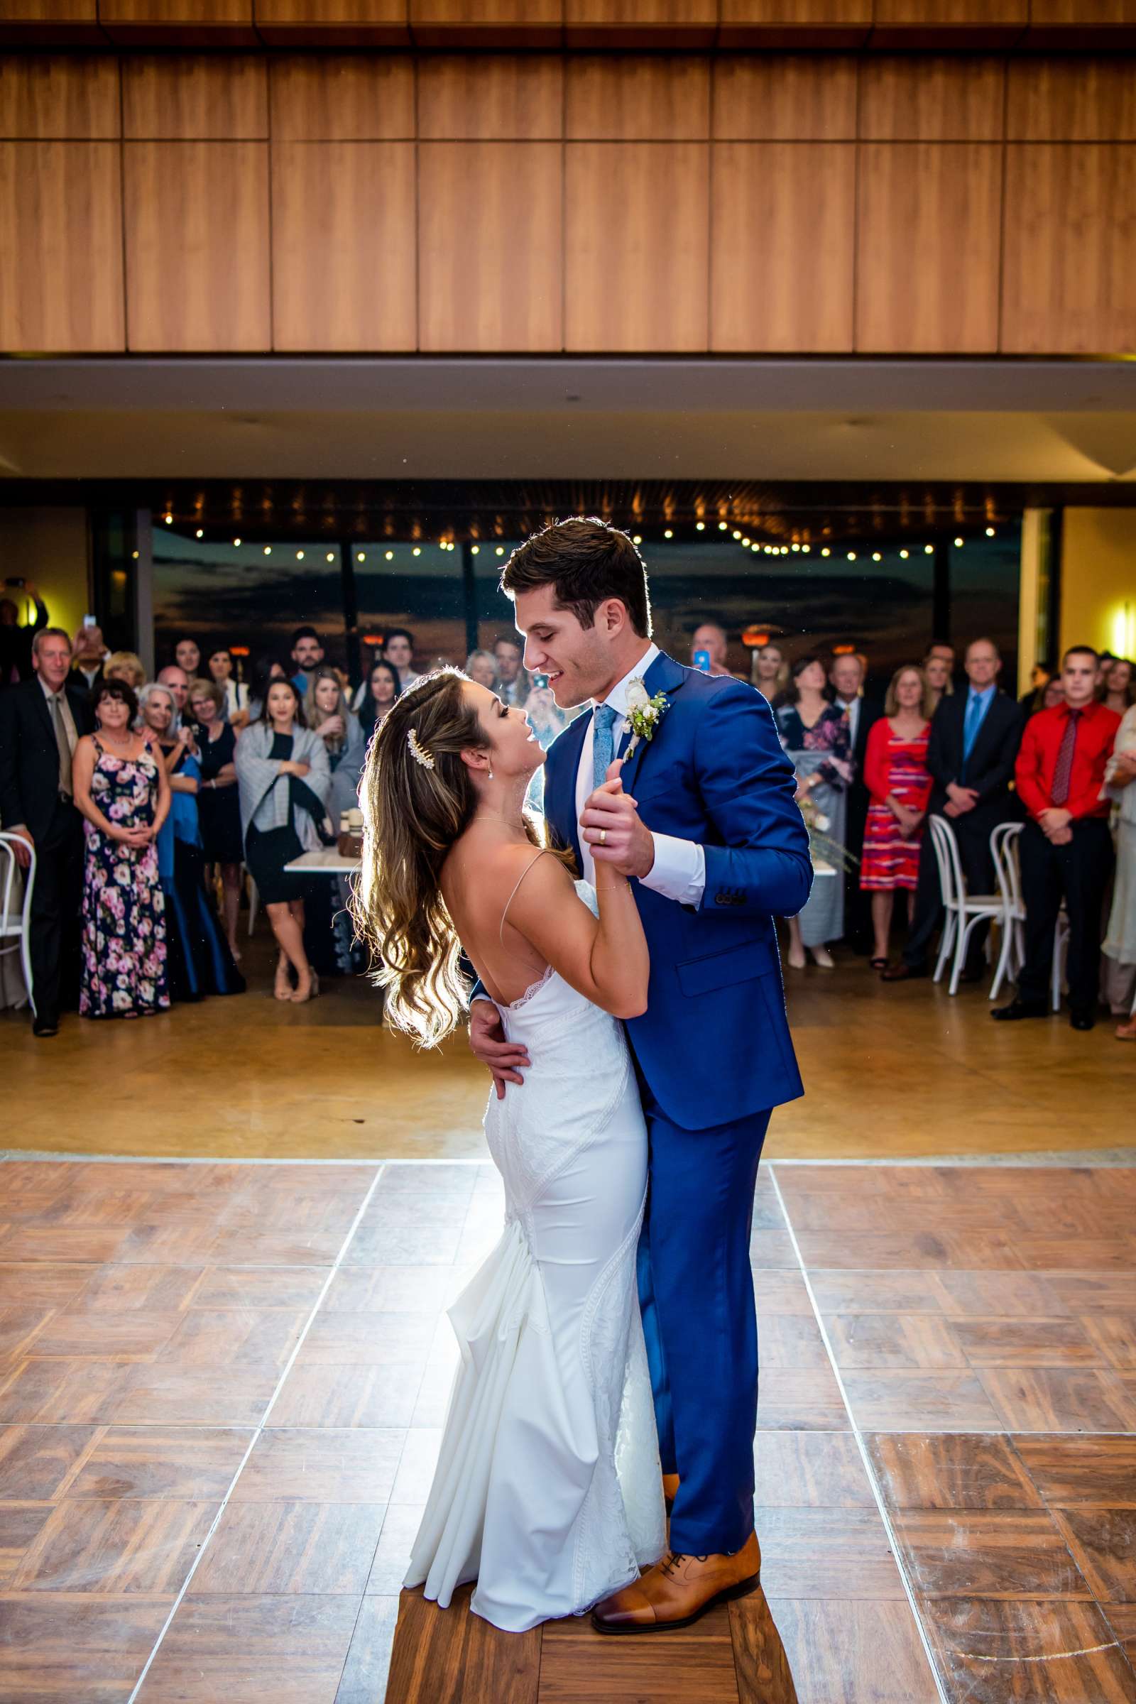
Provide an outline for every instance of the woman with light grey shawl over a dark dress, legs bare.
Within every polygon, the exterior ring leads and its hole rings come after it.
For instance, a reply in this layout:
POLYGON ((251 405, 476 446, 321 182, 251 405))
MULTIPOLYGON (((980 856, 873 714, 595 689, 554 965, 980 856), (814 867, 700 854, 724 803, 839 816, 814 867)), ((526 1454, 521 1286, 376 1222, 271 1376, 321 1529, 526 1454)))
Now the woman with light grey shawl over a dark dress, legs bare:
POLYGON ((320 990, 303 951, 303 879, 284 866, 322 845, 332 775, 324 741, 303 724, 295 682, 269 685, 261 719, 237 741, 237 782, 245 862, 279 946, 276 999, 310 1000, 320 990))

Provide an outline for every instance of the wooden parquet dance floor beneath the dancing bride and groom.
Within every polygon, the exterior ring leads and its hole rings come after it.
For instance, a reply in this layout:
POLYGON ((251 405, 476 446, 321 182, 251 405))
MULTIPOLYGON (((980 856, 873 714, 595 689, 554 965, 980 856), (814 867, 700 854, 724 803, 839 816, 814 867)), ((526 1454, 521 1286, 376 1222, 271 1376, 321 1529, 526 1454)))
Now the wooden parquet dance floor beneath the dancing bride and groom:
POLYGON ((763 1590, 663 1638, 400 1593, 499 1217, 480 1162, 0 1166, 0 1701, 1136 1701, 1136 1167, 763 1166, 763 1590))

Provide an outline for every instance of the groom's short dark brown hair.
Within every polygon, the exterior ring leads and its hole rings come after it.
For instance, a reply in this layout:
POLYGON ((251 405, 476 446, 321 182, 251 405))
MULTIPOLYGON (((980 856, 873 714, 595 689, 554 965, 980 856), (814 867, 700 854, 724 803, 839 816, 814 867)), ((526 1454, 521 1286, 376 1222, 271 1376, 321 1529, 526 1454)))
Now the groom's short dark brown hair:
POLYGON ((557 607, 571 610, 581 627, 594 625, 605 598, 618 598, 639 637, 651 637, 647 569, 618 527, 589 516, 533 533, 504 564, 501 590, 514 598, 538 586, 552 586, 557 607))

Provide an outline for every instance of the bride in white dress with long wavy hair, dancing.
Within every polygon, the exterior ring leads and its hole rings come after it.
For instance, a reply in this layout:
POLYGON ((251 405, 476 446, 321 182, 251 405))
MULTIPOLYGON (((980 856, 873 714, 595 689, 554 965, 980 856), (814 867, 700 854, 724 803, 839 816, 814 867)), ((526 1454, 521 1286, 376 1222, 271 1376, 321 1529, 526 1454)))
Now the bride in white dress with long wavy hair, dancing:
MULTIPOLYGON (((353 900, 388 1022, 433 1046, 462 1021, 468 956, 528 1048, 491 1096, 504 1234, 450 1310, 462 1361, 405 1585, 511 1632, 582 1614, 664 1549, 635 1295, 647 1135, 620 1019, 647 1004, 647 944, 611 864, 596 889, 523 815, 543 763, 523 712, 441 670, 397 699, 359 787, 353 900)), ((618 792, 618 767, 608 770, 618 792)))

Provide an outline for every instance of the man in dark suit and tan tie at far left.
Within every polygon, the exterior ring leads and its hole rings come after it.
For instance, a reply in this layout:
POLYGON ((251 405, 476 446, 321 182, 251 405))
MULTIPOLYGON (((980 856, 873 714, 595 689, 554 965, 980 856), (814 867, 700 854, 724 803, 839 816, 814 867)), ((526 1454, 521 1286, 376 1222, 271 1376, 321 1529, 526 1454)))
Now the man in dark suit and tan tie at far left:
MULTIPOLYGON (((83 886, 83 820, 75 809, 72 758, 90 712, 68 680, 72 641, 44 627, 32 644, 32 680, 0 694, 0 825, 36 849, 31 908, 32 1033, 60 1028, 60 983, 68 934, 77 932, 83 886)), ((20 864, 31 862, 17 849, 20 864)), ((72 941, 72 944, 77 944, 72 941)))

